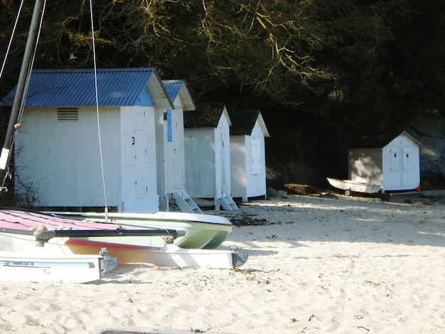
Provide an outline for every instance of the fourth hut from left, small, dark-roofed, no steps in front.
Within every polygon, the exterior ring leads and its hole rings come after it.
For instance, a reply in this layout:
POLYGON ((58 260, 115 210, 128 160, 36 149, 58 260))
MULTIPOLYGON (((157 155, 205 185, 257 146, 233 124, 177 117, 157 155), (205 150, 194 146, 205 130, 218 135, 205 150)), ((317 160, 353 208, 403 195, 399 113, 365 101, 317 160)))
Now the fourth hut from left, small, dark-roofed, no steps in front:
POLYGON ((266 198, 266 149, 269 137, 259 110, 230 113, 230 178, 232 198, 266 198))

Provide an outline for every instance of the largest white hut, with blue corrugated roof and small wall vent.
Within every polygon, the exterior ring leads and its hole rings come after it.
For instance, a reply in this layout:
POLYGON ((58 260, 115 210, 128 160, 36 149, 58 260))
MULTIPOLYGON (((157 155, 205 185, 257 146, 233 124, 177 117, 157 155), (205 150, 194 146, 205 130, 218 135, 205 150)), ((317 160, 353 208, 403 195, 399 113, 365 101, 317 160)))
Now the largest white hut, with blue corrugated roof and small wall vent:
POLYGON ((158 211, 155 110, 173 109, 158 72, 100 69, 97 90, 98 108, 93 70, 33 71, 15 141, 16 192, 32 190, 47 208, 158 211))

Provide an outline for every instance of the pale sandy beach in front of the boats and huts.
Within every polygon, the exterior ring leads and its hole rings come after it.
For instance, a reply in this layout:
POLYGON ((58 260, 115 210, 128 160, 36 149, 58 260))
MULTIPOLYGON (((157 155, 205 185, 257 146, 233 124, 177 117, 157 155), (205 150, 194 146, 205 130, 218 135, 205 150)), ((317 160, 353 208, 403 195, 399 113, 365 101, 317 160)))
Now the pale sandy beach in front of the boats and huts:
POLYGON ((234 270, 118 266, 91 284, 2 282, 1 333, 445 333, 445 204, 294 195, 225 215, 234 270))

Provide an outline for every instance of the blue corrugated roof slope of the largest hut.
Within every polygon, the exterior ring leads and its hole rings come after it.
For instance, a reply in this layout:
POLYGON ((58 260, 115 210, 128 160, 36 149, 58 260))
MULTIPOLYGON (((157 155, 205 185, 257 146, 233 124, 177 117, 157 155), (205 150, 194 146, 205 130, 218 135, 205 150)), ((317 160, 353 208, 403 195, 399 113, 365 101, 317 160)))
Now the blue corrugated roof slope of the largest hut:
MULTIPOLYGON (((97 69, 100 106, 154 106, 148 82, 155 68, 97 69)), ((16 88, 4 99, 12 104, 16 88)), ((94 70, 33 70, 26 106, 95 106, 94 70)))

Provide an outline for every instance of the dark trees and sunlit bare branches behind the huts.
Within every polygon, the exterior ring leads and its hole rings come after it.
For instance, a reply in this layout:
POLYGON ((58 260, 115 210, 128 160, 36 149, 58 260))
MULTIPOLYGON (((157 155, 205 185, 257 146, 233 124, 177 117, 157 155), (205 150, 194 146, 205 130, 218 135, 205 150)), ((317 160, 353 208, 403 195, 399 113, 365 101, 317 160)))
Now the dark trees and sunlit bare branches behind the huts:
MULTIPOLYGON (((4 54, 19 1, 2 2, 4 54)), ((445 114, 441 0, 93 2, 99 67, 156 67, 186 79, 196 102, 261 109, 270 163, 345 166, 351 138, 445 114)), ((36 68, 92 67, 88 1, 47 6, 36 68)), ((31 13, 27 4, 1 96, 16 83, 31 13)))

